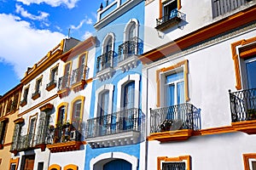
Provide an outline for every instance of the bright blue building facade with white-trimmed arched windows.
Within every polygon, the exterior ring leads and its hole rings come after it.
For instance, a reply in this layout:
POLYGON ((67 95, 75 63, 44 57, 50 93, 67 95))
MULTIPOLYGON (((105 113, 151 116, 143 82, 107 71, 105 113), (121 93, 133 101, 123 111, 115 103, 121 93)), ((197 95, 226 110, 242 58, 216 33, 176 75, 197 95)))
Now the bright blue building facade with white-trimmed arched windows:
POLYGON ((144 1, 115 0, 101 7, 86 128, 85 169, 144 169, 141 110, 144 1))

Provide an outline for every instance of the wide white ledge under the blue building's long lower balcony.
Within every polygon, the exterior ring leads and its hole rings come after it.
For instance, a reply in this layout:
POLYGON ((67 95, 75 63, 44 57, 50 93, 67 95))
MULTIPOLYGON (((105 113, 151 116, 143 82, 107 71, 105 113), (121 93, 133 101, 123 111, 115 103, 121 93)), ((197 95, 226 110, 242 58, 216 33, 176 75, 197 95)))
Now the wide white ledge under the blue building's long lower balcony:
POLYGON ((105 148, 111 146, 119 146, 125 144, 137 144, 140 133, 137 131, 130 131, 125 133, 116 133, 96 138, 86 139, 87 144, 91 148, 105 148))

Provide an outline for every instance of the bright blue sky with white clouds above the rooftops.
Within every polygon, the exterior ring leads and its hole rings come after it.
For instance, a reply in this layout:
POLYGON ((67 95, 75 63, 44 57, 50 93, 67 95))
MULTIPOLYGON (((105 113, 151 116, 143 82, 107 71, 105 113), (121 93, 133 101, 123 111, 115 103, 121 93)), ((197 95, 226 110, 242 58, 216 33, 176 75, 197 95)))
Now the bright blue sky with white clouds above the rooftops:
POLYGON ((0 95, 15 88, 26 68, 68 32, 81 41, 93 34, 96 11, 105 1, 0 0, 0 95))

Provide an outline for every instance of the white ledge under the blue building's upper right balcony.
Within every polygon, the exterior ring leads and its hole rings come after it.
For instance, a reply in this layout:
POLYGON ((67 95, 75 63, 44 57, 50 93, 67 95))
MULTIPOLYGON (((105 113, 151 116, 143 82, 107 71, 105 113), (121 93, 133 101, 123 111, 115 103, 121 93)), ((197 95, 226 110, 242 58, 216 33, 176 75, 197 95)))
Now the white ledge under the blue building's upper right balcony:
POLYGON ((118 66, 121 68, 123 72, 129 71, 137 67, 137 60, 137 55, 132 54, 132 56, 120 61, 118 66))

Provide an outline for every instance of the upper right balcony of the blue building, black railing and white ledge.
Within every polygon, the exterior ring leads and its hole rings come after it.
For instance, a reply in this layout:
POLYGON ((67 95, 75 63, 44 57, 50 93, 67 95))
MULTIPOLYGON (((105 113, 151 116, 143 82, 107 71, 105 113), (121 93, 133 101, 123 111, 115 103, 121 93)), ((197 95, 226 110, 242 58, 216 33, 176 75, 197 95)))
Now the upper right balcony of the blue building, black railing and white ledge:
POLYGON ((137 67, 137 56, 143 54, 143 41, 138 37, 119 45, 118 66, 122 71, 137 67))

